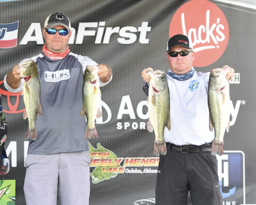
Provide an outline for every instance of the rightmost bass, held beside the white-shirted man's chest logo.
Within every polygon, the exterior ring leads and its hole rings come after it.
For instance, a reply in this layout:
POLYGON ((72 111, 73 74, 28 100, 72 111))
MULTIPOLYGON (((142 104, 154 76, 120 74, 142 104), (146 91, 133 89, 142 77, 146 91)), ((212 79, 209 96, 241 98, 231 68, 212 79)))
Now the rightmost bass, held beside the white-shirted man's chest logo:
POLYGON ((208 84, 208 107, 209 107, 209 129, 215 132, 215 138, 212 142, 212 155, 223 154, 223 137, 225 129, 229 131, 230 124, 230 96, 229 84, 226 74, 227 68, 213 68, 209 77, 208 84))

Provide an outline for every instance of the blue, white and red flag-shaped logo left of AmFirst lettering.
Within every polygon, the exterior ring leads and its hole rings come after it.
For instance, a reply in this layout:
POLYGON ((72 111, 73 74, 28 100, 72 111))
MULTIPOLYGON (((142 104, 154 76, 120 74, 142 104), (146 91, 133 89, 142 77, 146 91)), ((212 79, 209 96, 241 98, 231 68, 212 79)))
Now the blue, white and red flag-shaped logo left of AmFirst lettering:
POLYGON ((0 24, 0 48, 8 49, 17 46, 19 21, 0 24))

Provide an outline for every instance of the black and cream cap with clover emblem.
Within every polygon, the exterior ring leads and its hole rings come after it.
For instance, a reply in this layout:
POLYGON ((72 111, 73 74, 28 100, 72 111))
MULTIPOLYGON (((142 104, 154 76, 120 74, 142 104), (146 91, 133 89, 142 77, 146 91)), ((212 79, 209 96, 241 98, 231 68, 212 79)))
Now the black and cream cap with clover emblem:
POLYGON ((48 16, 45 20, 44 28, 47 26, 48 29, 51 29, 58 25, 64 26, 68 30, 68 32, 70 32, 71 30, 71 25, 68 17, 60 12, 56 12, 48 16))

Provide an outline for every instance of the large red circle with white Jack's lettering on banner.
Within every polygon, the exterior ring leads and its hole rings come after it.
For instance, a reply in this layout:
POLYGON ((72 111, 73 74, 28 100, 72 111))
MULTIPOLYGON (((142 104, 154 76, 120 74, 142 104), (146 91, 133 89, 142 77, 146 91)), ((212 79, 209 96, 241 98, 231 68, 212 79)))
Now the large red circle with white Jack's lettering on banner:
POLYGON ((214 3, 192 0, 183 4, 172 18, 169 37, 176 34, 188 36, 189 46, 196 52, 193 66, 203 67, 214 63, 226 50, 228 21, 214 3))

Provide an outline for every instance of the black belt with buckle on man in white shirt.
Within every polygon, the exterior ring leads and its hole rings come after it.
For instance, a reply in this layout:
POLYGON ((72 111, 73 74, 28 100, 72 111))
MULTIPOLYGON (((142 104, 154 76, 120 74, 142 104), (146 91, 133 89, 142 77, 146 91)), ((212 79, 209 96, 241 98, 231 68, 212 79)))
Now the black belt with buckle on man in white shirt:
POLYGON ((182 145, 182 146, 178 146, 178 145, 174 145, 171 144, 169 142, 166 143, 166 147, 167 147, 167 151, 170 151, 170 149, 173 150, 178 150, 181 151, 181 153, 189 153, 189 152, 210 152, 212 151, 212 147, 211 147, 212 143, 207 143, 201 146, 197 146, 197 145, 182 145))

